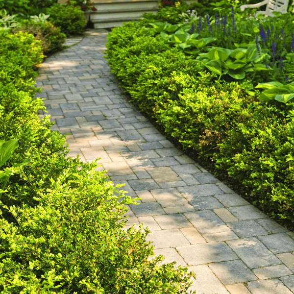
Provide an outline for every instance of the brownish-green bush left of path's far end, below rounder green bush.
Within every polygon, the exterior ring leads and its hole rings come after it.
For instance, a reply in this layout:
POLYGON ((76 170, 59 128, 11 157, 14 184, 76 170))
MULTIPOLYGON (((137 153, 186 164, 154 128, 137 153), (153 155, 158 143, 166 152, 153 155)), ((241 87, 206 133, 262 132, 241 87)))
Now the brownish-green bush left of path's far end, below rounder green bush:
POLYGON ((63 44, 66 40, 66 34, 60 31, 59 27, 55 27, 50 22, 34 23, 29 20, 22 22, 21 27, 12 28, 10 33, 15 34, 18 31, 27 32, 29 34, 37 33, 36 40, 41 41, 43 53, 54 53, 55 51, 63 49, 63 44))

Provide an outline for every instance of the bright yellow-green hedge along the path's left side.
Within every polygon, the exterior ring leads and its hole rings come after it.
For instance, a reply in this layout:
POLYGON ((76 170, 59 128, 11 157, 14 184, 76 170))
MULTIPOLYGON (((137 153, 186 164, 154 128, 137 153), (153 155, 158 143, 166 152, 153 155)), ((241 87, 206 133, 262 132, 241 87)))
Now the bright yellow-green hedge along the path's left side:
POLYGON ((38 42, 27 33, 0 31, 1 58, 7 59, 0 62, 0 140, 19 143, 1 170, 30 159, 1 194, 0 293, 187 294, 193 271, 175 270, 175 262, 159 267, 162 255, 148 262, 154 255, 145 240, 150 231, 122 230, 123 204, 141 198, 124 196, 115 189, 124 184, 113 187, 107 171, 96 172, 98 159, 65 158, 66 135, 50 130, 49 116, 39 120, 38 110, 46 107, 34 98, 42 89, 31 80, 42 59, 38 42))

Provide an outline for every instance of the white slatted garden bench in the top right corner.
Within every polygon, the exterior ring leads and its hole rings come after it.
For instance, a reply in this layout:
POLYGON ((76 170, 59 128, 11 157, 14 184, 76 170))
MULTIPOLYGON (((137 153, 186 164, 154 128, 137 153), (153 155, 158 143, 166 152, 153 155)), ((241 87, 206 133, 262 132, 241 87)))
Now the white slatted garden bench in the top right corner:
POLYGON ((267 4, 266 11, 256 11, 254 13, 254 18, 256 18, 258 14, 265 14, 265 15, 274 17, 274 14, 272 14, 272 11, 280 11, 282 14, 287 13, 288 3, 289 3, 289 0, 264 0, 257 4, 241 5, 240 9, 244 11, 244 9, 247 7, 256 8, 256 7, 267 4))

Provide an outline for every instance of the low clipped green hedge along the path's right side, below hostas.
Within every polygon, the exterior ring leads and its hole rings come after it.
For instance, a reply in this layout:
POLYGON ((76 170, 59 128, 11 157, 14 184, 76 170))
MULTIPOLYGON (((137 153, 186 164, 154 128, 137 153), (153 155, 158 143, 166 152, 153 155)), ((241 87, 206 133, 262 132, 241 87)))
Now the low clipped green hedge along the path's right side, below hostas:
POLYGON ((260 106, 258 93, 249 97, 236 82, 215 84, 216 75, 166 49, 143 24, 114 28, 104 51, 130 101, 184 149, 197 149, 249 187, 253 204, 293 223, 294 112, 286 120, 282 103, 260 106))

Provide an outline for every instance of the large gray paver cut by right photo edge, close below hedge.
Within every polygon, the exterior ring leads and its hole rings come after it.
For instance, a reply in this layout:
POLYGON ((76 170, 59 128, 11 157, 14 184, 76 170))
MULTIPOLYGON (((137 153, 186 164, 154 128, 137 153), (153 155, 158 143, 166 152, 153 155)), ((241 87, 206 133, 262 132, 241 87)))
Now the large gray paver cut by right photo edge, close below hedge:
POLYGON ((294 251, 294 240, 286 233, 260 236, 258 239, 274 254, 294 251))

